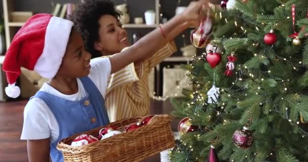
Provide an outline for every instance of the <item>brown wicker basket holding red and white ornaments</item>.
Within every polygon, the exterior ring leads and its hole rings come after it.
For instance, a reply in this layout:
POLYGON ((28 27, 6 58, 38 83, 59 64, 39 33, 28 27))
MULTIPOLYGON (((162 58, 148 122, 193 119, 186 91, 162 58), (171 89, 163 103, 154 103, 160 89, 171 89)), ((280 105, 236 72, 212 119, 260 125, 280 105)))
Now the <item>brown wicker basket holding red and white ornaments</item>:
POLYGON ((98 136, 100 129, 115 126, 119 129, 137 123, 142 117, 122 119, 106 126, 88 132, 76 134, 63 139, 57 145, 62 151, 64 161, 141 161, 149 156, 158 154, 168 148, 174 147, 175 141, 170 128, 169 115, 155 115, 150 123, 127 133, 115 135, 102 141, 85 146, 70 146, 76 137, 82 134, 98 136))

